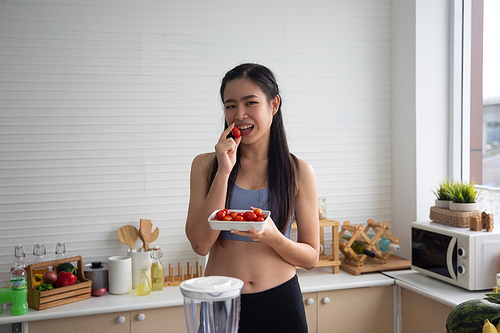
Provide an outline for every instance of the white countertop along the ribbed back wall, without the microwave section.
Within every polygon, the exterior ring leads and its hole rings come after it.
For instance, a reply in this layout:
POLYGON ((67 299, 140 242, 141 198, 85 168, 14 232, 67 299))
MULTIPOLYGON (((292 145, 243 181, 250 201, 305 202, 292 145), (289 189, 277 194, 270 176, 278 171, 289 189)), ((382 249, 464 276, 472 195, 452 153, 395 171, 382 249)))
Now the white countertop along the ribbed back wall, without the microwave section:
MULTIPOLYGON (((303 293, 325 290, 351 289, 374 286, 389 286, 394 279, 380 273, 353 276, 344 271, 332 274, 331 267, 318 267, 311 271, 298 269, 297 275, 303 293)), ((83 301, 37 311, 29 309, 28 314, 14 317, 10 313, 0 314, 0 325, 29 322, 36 320, 56 319, 63 317, 87 316, 118 311, 143 310, 183 304, 183 296, 179 287, 165 287, 161 292, 152 292, 148 296, 136 296, 134 292, 126 295, 106 293, 102 297, 90 297, 83 301)))

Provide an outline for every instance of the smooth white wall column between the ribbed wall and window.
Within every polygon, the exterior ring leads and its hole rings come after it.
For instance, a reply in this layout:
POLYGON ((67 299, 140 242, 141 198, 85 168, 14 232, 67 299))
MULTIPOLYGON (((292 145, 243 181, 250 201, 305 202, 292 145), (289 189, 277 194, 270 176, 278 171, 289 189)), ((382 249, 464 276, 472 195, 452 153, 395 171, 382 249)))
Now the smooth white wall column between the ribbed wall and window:
POLYGON ((410 256, 410 223, 429 220, 448 172, 449 1, 392 2, 393 224, 410 256))

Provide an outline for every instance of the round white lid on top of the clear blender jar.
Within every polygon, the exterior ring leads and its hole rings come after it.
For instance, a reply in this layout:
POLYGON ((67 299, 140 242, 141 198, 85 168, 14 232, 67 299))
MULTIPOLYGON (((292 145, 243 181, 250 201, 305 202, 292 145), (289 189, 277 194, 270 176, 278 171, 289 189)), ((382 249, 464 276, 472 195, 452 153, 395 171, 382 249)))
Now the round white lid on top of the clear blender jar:
POLYGON ((188 298, 219 301, 240 296, 243 281, 227 276, 205 276, 182 282, 180 289, 188 298))

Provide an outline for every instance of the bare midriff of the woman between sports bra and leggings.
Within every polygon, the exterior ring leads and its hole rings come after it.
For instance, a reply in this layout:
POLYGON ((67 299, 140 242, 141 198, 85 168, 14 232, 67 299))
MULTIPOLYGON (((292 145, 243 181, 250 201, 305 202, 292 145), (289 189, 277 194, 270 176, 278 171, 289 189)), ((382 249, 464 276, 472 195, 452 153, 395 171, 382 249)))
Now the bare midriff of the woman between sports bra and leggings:
POLYGON ((284 261, 269 245, 259 242, 217 242, 208 257, 205 275, 235 277, 245 284, 243 294, 277 287, 295 276, 295 266, 284 261))

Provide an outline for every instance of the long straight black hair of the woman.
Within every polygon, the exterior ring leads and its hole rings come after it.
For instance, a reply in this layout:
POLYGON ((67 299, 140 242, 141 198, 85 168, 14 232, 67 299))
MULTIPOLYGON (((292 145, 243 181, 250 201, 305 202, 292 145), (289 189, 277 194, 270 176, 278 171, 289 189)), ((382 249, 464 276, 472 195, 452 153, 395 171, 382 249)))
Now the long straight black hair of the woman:
MULTIPOLYGON (((250 79, 257 84, 271 102, 279 96, 279 88, 274 74, 267 67, 259 64, 241 64, 226 73, 220 87, 220 97, 224 103, 224 90, 228 82, 235 79, 250 79)), ((281 112, 281 96, 278 111, 273 116, 269 140, 269 152, 267 165, 268 182, 268 207, 273 212, 273 220, 278 230, 285 232, 287 222, 293 217, 295 206, 295 195, 297 194, 297 168, 298 160, 290 153, 286 139, 285 126, 281 112)), ((227 121, 225 128, 228 127, 227 121)), ((236 164, 229 176, 226 205, 231 195, 234 182, 240 169, 240 151, 237 151, 236 164)), ((208 178, 208 189, 217 173, 218 163, 214 157, 208 178)), ((208 192, 208 190, 207 190, 208 192)))

